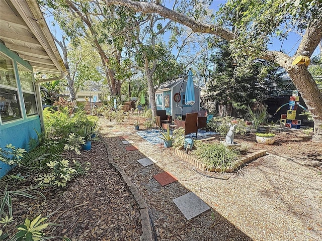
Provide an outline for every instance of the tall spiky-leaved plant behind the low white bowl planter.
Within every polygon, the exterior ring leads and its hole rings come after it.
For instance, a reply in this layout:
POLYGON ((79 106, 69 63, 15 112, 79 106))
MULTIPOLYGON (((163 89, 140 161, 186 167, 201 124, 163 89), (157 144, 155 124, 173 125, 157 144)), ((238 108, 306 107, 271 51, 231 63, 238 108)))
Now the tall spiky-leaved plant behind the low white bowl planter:
POLYGON ((252 122, 258 133, 268 133, 270 130, 270 127, 266 125, 268 121, 267 107, 268 105, 265 104, 259 110, 253 111, 250 106, 247 106, 247 118, 252 122))

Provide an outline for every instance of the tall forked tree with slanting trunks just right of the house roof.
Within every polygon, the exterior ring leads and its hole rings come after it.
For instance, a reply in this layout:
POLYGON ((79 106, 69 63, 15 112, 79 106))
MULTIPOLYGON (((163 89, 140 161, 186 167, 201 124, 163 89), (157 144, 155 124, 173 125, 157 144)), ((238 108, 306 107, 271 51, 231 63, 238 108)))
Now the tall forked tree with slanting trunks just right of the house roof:
POLYGON ((102 1, 43 0, 42 4, 53 10, 55 20, 72 41, 81 37, 95 47, 111 94, 120 95, 122 83, 131 74, 122 68, 127 63, 122 51, 131 11, 108 8, 102 1))

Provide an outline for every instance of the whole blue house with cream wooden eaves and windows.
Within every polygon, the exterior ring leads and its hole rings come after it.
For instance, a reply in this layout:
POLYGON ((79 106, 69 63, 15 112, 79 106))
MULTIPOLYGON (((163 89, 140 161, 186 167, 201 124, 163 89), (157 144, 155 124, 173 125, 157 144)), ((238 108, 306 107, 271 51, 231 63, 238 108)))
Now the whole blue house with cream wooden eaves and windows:
MULTIPOLYGON (((65 67, 37 0, 0 1, 0 9, 0 147, 11 143, 28 150, 35 130, 43 129, 33 73, 57 74, 58 79, 65 67)), ((0 161, 0 177, 9 170, 0 161)))

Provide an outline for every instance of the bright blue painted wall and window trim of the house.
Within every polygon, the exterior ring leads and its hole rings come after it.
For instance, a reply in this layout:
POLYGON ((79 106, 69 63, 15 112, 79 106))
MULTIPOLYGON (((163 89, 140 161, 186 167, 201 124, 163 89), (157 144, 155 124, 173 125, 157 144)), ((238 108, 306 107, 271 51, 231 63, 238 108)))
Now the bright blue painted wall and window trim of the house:
MULTIPOLYGON (((17 63, 25 66, 32 70, 32 66, 21 59, 17 54, 10 51, 5 45, 0 43, 1 52, 9 56, 14 63, 16 69, 16 78, 19 92, 19 100, 21 102, 22 118, 16 121, 10 121, 0 124, 0 147, 6 150, 7 144, 12 144, 15 147, 25 148, 28 151, 28 143, 30 138, 37 138, 37 132, 41 132, 40 118, 39 115, 27 117, 25 105, 23 102, 22 90, 20 86, 20 80, 18 76, 17 63)), ((6 175, 10 171, 10 166, 0 161, 0 178, 6 175)))

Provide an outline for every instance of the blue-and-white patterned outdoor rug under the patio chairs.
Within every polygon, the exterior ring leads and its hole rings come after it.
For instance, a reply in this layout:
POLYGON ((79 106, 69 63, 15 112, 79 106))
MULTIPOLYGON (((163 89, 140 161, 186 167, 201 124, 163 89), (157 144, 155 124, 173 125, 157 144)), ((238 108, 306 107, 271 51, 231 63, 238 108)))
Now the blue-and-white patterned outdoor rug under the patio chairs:
MULTIPOLYGON (((171 131, 172 132, 172 131, 171 131)), ((136 132, 137 135, 142 137, 145 141, 155 145, 158 143, 163 143, 163 140, 160 138, 162 137, 160 131, 158 129, 150 129, 146 131, 138 131, 136 132)), ((218 133, 215 132, 206 132, 204 130, 198 130, 197 140, 207 138, 208 136, 216 135, 218 133)), ((186 136, 186 138, 196 139, 196 133, 191 133, 186 136)))

